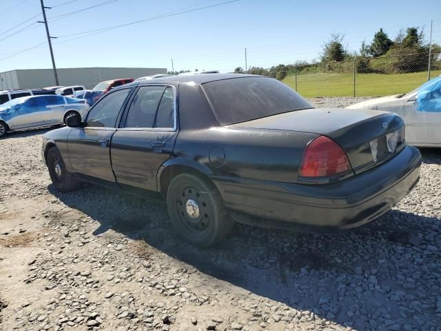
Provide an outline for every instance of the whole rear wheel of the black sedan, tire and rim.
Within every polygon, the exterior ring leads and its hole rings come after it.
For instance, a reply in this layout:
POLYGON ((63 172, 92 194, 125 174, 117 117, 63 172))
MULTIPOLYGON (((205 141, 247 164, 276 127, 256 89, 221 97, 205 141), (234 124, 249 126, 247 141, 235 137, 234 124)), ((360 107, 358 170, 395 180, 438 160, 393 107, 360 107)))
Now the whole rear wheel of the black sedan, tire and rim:
POLYGON ((214 184, 192 174, 174 177, 167 190, 167 210, 176 233, 196 247, 222 241, 234 227, 214 184))

